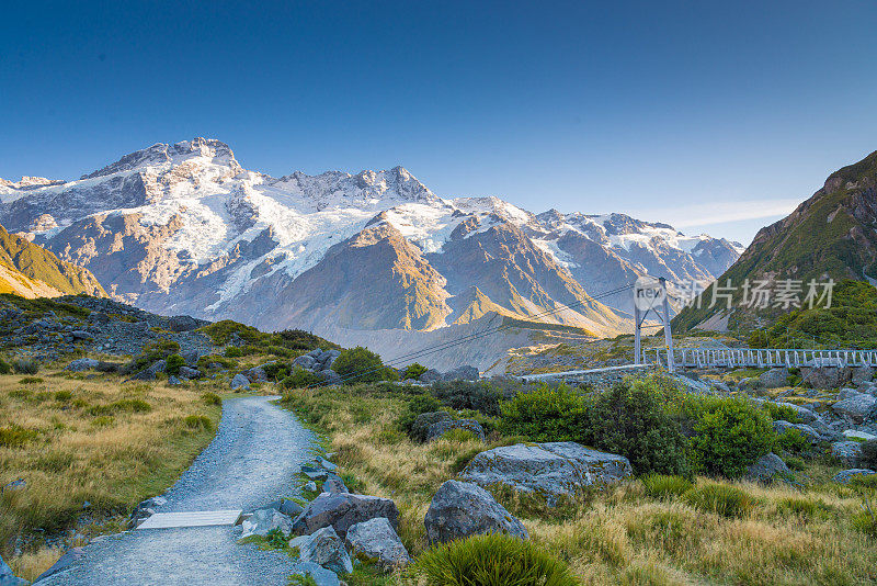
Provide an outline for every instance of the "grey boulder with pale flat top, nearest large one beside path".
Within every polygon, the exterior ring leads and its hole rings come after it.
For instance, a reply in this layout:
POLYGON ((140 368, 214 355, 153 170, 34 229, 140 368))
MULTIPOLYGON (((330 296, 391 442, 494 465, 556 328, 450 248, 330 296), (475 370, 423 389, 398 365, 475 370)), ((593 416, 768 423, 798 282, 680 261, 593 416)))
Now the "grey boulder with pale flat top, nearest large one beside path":
POLYGON ((317 529, 332 526, 343 538, 351 526, 377 517, 389 519, 394 529, 399 526, 399 509, 389 498, 351 493, 322 493, 296 518, 293 531, 298 534, 310 534, 317 529))

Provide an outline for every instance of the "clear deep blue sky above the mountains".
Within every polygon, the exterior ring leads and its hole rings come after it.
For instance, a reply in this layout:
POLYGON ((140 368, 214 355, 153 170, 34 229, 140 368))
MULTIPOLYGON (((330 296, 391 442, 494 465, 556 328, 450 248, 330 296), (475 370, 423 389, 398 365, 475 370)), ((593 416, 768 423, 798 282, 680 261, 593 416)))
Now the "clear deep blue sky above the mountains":
POLYGON ((155 143, 748 244, 877 149, 877 2, 3 3, 0 177, 155 143))

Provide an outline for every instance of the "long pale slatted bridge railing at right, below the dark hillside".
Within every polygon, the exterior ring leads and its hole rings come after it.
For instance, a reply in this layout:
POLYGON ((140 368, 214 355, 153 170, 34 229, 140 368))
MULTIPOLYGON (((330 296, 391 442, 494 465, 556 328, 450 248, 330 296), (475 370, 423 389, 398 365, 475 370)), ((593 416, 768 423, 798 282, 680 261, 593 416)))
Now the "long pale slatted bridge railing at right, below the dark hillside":
MULTIPOLYGON (((667 349, 648 351, 647 360, 667 367, 667 349)), ((675 348, 680 368, 711 367, 877 367, 877 350, 809 350, 775 348, 675 348)))

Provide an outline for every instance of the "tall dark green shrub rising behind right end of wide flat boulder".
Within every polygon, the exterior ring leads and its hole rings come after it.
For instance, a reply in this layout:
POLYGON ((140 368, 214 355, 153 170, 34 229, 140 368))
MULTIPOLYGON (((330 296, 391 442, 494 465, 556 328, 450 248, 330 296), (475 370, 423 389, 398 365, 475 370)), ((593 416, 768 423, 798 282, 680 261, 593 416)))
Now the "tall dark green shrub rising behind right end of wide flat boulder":
POLYGON ((624 455, 637 474, 688 475, 685 437, 665 399, 653 379, 618 383, 596 395, 577 441, 624 455))

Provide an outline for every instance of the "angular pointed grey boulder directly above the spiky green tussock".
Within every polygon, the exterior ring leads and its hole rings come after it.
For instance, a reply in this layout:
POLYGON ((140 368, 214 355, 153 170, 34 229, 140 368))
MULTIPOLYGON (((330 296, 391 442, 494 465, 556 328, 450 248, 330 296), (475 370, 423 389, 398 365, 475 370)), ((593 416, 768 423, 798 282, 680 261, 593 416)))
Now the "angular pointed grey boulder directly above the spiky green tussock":
POLYGON ((527 530, 505 507, 477 484, 445 482, 423 519, 430 544, 481 533, 506 533, 528 539, 527 530))

